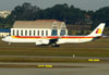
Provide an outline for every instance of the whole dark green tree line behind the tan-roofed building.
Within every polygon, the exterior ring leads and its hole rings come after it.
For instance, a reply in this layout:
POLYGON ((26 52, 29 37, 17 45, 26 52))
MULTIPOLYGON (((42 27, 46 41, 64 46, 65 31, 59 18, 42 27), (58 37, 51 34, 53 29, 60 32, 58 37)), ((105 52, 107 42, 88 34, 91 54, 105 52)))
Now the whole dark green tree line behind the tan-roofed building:
POLYGON ((109 7, 94 12, 81 10, 66 3, 40 9, 37 5, 25 2, 15 7, 7 18, 0 17, 0 28, 11 28, 15 21, 35 20, 58 20, 70 25, 93 25, 93 27, 105 22, 109 26, 109 7))

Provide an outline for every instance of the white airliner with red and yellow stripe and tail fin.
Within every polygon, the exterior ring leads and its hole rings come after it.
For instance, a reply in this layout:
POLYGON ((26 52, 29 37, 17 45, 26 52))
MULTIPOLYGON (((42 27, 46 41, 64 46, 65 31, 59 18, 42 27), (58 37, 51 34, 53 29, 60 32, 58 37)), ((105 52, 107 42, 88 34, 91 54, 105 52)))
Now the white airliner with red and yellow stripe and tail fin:
POLYGON ((60 47, 61 43, 82 43, 101 37, 106 23, 100 23, 89 35, 86 36, 8 36, 3 41, 11 42, 34 42, 36 46, 60 47))

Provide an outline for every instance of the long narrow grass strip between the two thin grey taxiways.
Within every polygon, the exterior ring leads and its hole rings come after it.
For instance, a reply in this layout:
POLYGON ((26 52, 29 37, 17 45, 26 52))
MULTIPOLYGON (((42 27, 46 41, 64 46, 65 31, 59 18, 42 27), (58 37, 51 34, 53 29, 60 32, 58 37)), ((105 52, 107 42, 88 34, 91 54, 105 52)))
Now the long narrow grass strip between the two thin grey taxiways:
POLYGON ((0 58, 0 62, 17 62, 17 63, 24 63, 24 62, 33 62, 33 63, 109 63, 109 60, 101 60, 100 61, 88 61, 88 59, 74 59, 74 58, 70 58, 70 59, 64 59, 64 58, 0 58))

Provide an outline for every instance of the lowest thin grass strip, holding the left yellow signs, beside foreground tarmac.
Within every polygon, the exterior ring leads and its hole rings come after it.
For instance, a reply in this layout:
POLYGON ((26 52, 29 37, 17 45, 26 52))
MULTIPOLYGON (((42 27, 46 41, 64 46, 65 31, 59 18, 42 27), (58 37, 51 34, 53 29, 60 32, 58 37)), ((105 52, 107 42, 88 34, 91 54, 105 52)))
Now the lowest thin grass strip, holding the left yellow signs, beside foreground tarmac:
POLYGON ((83 68, 89 66, 72 66, 72 65, 29 65, 29 64, 0 64, 0 68, 83 68))

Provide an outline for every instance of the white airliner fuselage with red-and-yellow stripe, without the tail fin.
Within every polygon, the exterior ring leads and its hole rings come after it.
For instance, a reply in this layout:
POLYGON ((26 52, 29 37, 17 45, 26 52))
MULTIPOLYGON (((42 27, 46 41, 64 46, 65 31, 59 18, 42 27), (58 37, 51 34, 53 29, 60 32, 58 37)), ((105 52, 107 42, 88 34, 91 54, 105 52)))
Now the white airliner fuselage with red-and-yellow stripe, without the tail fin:
POLYGON ((3 38, 7 42, 40 42, 40 45, 48 45, 50 39, 58 39, 57 43, 81 43, 92 41, 95 37, 88 36, 48 36, 48 37, 20 37, 20 36, 9 36, 3 38))

